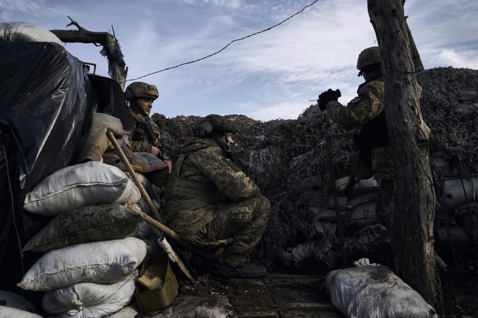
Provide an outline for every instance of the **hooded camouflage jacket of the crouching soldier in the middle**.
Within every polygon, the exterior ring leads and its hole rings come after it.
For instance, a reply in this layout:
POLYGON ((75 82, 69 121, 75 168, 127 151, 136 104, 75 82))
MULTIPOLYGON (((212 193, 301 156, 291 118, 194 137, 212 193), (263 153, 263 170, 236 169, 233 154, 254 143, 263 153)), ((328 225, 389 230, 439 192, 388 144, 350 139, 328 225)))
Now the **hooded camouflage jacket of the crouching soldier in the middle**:
POLYGON ((166 218, 183 238, 193 236, 218 207, 260 195, 259 188, 209 138, 189 138, 166 186, 166 218))

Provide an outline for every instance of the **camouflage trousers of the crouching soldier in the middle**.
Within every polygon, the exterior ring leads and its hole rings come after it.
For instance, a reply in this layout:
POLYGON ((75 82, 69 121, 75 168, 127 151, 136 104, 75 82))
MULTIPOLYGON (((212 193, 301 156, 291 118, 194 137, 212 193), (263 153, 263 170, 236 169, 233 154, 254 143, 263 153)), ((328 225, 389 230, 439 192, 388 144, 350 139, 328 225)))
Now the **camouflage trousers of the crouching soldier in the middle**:
POLYGON ((217 216, 199 230, 196 237, 202 240, 234 239, 213 252, 221 255, 223 262, 229 265, 241 265, 262 237, 270 209, 269 200, 263 196, 220 206, 217 216))

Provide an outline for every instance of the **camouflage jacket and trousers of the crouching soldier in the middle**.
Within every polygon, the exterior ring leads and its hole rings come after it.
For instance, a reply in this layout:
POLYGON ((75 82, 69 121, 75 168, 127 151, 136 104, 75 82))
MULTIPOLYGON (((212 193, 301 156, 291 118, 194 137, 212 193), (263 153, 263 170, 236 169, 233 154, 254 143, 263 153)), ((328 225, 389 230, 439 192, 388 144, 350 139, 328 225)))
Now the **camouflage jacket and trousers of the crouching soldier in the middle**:
POLYGON ((270 203, 209 138, 186 140, 166 186, 168 226, 183 239, 241 265, 261 238, 270 203))

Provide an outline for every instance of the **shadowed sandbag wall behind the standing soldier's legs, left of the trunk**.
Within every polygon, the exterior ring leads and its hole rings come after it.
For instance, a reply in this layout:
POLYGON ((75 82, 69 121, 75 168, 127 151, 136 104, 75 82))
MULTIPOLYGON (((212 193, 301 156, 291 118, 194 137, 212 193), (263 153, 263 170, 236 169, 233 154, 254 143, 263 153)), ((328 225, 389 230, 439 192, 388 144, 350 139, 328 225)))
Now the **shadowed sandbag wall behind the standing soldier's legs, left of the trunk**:
MULTIPOLYGON (((372 177, 357 182, 352 188, 349 202, 348 195, 345 194, 348 182, 349 177, 336 180, 345 248, 362 252, 368 251, 370 244, 374 246, 387 244, 389 242, 387 230, 378 223, 375 216, 377 181, 372 177)), ((340 259, 341 253, 337 249, 339 244, 336 233, 337 212, 332 193, 328 195, 327 208, 317 213, 312 225, 313 239, 282 251, 287 265, 297 266, 304 260, 320 260, 333 267, 340 259)))

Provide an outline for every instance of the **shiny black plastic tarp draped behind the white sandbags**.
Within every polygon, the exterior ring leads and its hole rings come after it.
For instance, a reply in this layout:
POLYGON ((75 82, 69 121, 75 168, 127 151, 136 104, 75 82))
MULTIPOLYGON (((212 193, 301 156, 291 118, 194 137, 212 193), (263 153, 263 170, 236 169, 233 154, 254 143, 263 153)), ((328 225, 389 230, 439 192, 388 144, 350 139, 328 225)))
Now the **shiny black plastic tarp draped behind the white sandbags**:
MULTIPOLYGON (((97 107, 81 62, 47 42, 0 42, 0 289, 22 278, 21 246, 48 220, 22 210, 25 195, 75 164, 97 107), (8 168, 7 168, 8 167, 8 168)), ((40 255, 25 253, 24 270, 40 255)))

